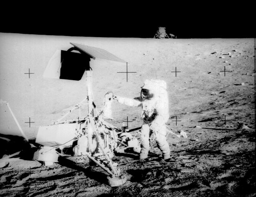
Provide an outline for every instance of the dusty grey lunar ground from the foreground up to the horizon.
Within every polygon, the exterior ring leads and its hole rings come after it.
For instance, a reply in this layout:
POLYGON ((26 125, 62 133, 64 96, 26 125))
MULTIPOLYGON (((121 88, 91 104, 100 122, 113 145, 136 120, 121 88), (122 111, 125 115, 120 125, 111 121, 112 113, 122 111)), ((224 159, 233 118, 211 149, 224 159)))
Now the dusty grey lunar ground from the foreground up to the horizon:
MULTIPOLYGON (((32 160, 6 105, 0 106, 1 157, 21 151, 0 168, 1 196, 243 196, 256 195, 255 175, 255 53, 254 39, 142 39, 0 34, 0 96, 8 101, 31 142, 39 126, 52 124, 86 97, 80 81, 43 78, 57 49, 70 42, 99 47, 126 63, 96 59, 94 103, 104 95, 134 98, 146 79, 167 83, 170 118, 167 126, 184 130, 188 138, 169 134, 170 162, 162 160, 153 137, 146 161, 132 150, 116 153, 113 161, 128 174, 119 187, 107 184, 98 166, 59 158, 46 167, 32 160), (29 70, 30 69, 30 70, 29 70), (27 74, 30 71, 30 77, 27 74), (177 72, 175 72, 177 71, 177 72), (30 118, 30 119, 29 119, 30 118), (28 125, 28 121, 31 121, 28 125), (176 121, 177 120, 177 121, 176 121)), ((82 110, 86 115, 87 108, 82 110)), ((140 107, 112 102, 121 128, 142 124, 140 107)), ((77 118, 79 112, 67 116, 77 118)), ((132 132, 140 141, 139 130, 132 132)), ((178 134, 178 133, 177 133, 178 134)))

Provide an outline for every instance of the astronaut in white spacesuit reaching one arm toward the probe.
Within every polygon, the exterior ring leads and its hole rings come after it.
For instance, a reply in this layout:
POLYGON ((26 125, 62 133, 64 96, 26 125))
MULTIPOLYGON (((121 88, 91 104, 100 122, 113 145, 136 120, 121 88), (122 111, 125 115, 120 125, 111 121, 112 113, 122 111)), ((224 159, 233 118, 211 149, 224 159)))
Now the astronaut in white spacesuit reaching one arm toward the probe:
POLYGON ((150 149, 149 139, 155 135, 156 144, 162 151, 164 160, 170 159, 170 148, 166 141, 166 122, 169 119, 168 94, 166 83, 162 80, 146 80, 141 87, 140 97, 128 99, 114 96, 121 104, 127 106, 141 106, 143 124, 141 127, 140 159, 148 158, 150 149))

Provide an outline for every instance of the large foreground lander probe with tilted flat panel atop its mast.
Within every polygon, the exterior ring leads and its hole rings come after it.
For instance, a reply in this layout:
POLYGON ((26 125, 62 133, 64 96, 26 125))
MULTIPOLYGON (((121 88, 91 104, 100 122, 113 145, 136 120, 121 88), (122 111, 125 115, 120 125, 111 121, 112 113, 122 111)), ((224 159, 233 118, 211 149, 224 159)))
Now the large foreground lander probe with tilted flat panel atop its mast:
POLYGON ((85 72, 87 97, 52 125, 39 127, 36 143, 42 146, 35 152, 34 160, 52 165, 62 156, 72 157, 76 163, 94 162, 110 175, 110 186, 122 185, 126 182, 126 176, 118 164, 112 162, 114 151, 133 148, 135 152, 140 152, 140 146, 135 136, 106 122, 105 119, 111 118, 112 92, 106 93, 103 110, 98 111, 96 108, 92 95, 91 67, 96 58, 121 63, 126 61, 100 48, 71 44, 74 47, 67 51, 56 51, 46 67, 44 77, 80 80, 85 72), (76 53, 71 52, 73 50, 76 53), (87 116, 62 121, 73 110, 80 110, 84 105, 88 107, 87 116))

